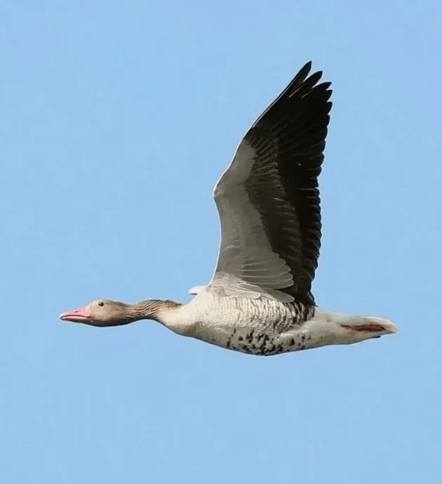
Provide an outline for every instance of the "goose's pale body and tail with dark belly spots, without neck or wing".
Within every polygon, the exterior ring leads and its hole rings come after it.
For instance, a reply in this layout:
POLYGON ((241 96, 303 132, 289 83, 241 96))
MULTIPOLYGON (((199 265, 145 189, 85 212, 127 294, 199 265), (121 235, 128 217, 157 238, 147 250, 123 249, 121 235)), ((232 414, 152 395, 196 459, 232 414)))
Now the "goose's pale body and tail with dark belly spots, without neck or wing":
POLYGON ((351 344, 397 332, 393 323, 380 318, 269 298, 227 296, 210 286, 187 304, 160 310, 156 320, 182 336, 253 355, 351 344))

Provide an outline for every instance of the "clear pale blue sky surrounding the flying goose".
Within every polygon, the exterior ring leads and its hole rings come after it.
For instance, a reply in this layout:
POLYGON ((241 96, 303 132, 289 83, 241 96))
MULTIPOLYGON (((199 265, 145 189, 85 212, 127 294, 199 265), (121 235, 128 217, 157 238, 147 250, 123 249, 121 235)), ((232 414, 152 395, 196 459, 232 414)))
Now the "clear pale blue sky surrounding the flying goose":
POLYGON ((1 2, 1 483, 441 479, 441 11, 1 2), (59 321, 210 280, 213 185, 310 59, 334 88, 316 301, 399 336, 255 358, 59 321))

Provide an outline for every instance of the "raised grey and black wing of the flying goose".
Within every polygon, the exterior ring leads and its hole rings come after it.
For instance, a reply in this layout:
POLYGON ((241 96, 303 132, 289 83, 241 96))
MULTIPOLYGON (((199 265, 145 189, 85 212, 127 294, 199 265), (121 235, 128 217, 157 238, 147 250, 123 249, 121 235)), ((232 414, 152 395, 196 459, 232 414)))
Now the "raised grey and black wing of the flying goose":
POLYGON ((221 247, 212 286, 314 303, 321 246, 318 176, 332 103, 307 63, 257 119, 215 188, 221 247))

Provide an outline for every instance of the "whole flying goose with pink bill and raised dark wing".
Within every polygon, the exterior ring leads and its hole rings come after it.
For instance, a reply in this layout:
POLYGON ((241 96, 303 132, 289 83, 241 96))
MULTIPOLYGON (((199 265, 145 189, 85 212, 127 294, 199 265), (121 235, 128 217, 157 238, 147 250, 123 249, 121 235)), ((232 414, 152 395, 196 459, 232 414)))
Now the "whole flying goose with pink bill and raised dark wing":
POLYGON ((318 177, 331 83, 312 62, 257 118, 217 182, 215 273, 188 303, 100 299, 62 313, 97 327, 155 320, 182 336, 252 355, 353 344, 398 332, 382 318, 321 309, 312 294, 321 245, 318 177))

